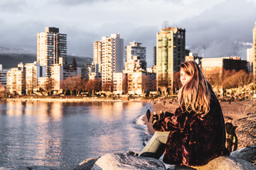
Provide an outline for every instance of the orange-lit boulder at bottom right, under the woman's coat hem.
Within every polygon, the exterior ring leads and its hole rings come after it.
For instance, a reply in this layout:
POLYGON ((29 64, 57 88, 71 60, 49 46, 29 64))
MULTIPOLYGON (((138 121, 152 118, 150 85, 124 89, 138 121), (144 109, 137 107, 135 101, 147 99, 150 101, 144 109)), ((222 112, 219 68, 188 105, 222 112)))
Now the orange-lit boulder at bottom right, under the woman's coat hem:
POLYGON ((205 166, 193 166, 197 170, 255 170, 256 165, 235 157, 218 157, 205 166))

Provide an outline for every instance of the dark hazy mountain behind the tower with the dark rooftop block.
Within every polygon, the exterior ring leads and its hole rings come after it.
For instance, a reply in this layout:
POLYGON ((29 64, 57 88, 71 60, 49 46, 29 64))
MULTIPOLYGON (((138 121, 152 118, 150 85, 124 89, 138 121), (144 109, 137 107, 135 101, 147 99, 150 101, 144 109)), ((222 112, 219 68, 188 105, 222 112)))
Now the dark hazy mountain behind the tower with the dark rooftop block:
MULTIPOLYGON (((73 55, 68 55, 68 64, 72 64, 73 58, 75 58, 78 66, 83 64, 92 63, 91 57, 78 57, 73 55)), ((24 50, 21 48, 7 48, 0 47, 0 64, 3 65, 3 69, 10 69, 17 67, 18 63, 23 62, 32 63, 36 61, 36 54, 29 50, 24 50)))

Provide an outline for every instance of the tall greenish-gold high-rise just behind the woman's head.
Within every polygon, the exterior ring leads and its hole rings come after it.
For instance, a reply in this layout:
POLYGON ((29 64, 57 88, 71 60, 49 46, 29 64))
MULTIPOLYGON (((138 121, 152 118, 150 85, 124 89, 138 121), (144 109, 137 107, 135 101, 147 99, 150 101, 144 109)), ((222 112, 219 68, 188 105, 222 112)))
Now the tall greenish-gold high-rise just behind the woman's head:
POLYGON ((185 61, 185 34, 181 28, 164 28, 156 33, 156 91, 173 93, 174 72, 185 61))

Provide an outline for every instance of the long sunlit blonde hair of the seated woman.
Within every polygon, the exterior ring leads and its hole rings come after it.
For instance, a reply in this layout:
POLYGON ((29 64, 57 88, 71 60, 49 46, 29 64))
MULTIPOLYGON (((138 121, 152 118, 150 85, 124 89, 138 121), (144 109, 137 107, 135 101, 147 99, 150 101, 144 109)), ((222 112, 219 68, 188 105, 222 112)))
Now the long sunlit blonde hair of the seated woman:
POLYGON ((178 92, 178 100, 182 111, 194 111, 204 116, 210 111, 211 86, 206 81, 198 64, 193 61, 182 62, 180 69, 191 76, 178 92))

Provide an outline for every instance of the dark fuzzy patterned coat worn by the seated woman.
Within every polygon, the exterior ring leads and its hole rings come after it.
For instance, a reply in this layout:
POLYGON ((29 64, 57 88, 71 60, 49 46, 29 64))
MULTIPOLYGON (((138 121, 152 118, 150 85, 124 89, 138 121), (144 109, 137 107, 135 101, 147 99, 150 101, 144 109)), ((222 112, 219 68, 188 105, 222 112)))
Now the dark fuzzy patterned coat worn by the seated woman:
POLYGON ((219 156, 228 156, 225 148, 225 124, 220 103, 215 95, 210 99, 210 111, 205 116, 182 112, 154 123, 157 131, 170 131, 165 145, 166 164, 202 166, 219 156))

